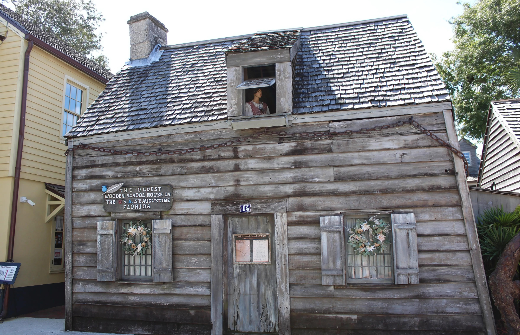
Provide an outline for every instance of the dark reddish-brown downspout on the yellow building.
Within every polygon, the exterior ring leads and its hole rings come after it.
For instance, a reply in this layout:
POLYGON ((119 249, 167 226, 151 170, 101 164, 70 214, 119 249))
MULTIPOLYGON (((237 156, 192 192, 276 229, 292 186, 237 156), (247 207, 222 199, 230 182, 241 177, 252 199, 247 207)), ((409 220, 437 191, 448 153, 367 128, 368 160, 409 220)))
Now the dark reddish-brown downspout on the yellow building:
MULTIPOLYGON (((7 251, 7 262, 12 262, 12 254, 15 249, 15 228, 16 228, 16 213, 18 209, 18 188, 20 186, 20 167, 22 165, 23 152, 23 137, 25 135, 25 110, 27 109, 27 83, 29 81, 29 57, 33 48, 33 41, 30 40, 25 50, 25 58, 23 60, 23 82, 22 82, 22 103, 20 108, 20 128, 18 131, 18 149, 16 151, 16 167, 15 167, 15 186, 12 190, 12 204, 11 204, 11 225, 9 227, 9 247, 7 251)), ((3 320, 7 315, 7 306, 9 303, 9 285, 5 289, 4 305, 0 320, 3 320)))

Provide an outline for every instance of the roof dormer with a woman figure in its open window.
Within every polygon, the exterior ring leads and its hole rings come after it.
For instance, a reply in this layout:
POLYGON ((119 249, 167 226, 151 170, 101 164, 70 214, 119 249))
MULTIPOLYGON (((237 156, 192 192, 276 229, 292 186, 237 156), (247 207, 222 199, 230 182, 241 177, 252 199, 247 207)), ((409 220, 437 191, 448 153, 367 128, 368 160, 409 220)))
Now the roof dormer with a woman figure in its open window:
POLYGON ((292 113, 300 32, 256 33, 226 50, 228 117, 292 113))

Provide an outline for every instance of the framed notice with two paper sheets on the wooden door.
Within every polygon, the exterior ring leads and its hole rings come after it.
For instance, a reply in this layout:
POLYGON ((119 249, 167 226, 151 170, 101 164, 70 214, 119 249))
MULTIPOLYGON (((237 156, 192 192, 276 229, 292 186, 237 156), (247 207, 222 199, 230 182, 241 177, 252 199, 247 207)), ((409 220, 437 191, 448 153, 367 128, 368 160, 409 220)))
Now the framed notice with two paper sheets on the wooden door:
POLYGON ((233 264, 270 264, 270 233, 233 234, 233 264))

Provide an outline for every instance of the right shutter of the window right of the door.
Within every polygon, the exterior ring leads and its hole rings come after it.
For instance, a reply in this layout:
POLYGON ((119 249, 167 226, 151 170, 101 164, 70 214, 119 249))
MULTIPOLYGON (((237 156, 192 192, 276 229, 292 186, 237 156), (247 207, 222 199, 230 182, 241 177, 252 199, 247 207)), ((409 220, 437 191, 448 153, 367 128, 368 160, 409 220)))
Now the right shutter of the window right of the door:
POLYGON ((415 214, 392 214, 396 284, 419 284, 415 214))

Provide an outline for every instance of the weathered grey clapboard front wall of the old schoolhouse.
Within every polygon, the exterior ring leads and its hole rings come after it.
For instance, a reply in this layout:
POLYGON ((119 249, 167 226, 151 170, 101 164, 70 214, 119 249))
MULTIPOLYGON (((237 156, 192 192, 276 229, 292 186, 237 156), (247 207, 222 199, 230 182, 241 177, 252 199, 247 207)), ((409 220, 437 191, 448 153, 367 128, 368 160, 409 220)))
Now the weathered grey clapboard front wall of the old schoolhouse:
MULTIPOLYGON (((357 130, 406 119, 309 122, 284 130, 357 130)), ((441 111, 414 119, 447 140, 441 111)), ((166 151, 256 131, 206 130, 96 145, 166 151)), ((77 150, 72 178, 74 329, 209 333, 211 201, 288 198, 293 335, 484 331, 451 153, 410 125, 322 141, 257 138, 176 156, 77 150), (174 188, 173 207, 162 215, 173 222, 173 283, 95 281, 96 221, 109 220, 100 185, 122 182, 174 188), (320 216, 369 209, 415 214, 420 284, 321 285, 320 216)))

